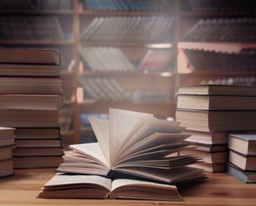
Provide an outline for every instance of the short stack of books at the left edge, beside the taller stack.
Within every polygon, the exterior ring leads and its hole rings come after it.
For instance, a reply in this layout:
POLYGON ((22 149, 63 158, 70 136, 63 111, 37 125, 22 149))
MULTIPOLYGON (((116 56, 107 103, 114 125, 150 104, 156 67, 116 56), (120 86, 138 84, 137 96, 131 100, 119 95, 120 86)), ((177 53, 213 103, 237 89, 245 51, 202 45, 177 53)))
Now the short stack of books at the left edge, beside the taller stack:
POLYGON ((14 129, 0 127, 0 177, 14 174, 14 129))

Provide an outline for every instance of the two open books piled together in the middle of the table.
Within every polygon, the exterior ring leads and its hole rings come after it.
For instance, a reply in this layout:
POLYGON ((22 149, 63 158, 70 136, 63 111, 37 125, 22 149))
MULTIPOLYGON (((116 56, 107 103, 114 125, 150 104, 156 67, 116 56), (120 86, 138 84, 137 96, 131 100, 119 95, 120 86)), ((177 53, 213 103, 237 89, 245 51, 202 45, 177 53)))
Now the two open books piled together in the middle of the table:
POLYGON ((176 185, 206 178, 190 166, 200 158, 178 156, 191 145, 178 122, 122 109, 89 120, 98 141, 70 145, 38 197, 181 200, 176 185))

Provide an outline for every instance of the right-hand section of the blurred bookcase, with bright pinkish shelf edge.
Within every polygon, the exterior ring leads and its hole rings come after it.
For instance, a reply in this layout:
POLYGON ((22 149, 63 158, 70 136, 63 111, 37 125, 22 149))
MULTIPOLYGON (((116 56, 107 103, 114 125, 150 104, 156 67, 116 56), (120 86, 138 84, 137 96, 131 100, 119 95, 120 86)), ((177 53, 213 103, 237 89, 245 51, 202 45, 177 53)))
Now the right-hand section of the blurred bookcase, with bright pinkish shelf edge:
POLYGON ((255 85, 255 11, 251 1, 180 1, 177 82, 255 85))

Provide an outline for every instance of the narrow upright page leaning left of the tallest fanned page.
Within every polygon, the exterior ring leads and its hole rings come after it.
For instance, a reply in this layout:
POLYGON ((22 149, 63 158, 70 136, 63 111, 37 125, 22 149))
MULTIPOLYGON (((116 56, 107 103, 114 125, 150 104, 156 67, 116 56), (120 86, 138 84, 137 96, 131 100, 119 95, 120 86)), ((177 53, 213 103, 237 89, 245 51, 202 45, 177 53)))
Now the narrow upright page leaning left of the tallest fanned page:
POLYGON ((109 139, 109 120, 89 117, 91 127, 98 140, 99 147, 110 165, 110 139, 109 139))

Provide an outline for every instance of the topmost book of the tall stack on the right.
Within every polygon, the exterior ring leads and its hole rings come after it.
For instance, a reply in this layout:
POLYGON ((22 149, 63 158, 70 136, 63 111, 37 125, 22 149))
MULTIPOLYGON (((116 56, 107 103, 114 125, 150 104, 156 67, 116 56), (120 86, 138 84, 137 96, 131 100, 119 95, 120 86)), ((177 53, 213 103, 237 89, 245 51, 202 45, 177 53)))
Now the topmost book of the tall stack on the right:
POLYGON ((234 85, 184 85, 178 86, 177 94, 210 94, 210 95, 235 95, 255 96, 256 86, 234 85))

